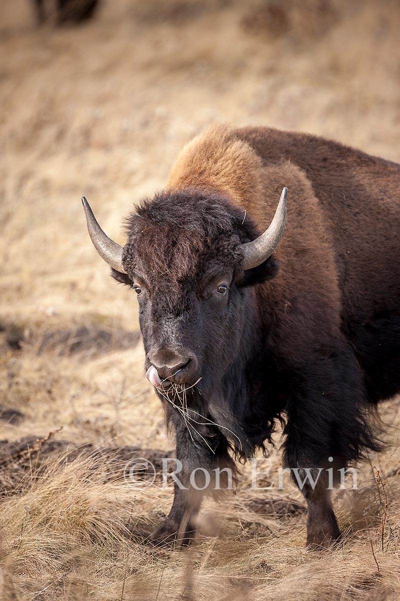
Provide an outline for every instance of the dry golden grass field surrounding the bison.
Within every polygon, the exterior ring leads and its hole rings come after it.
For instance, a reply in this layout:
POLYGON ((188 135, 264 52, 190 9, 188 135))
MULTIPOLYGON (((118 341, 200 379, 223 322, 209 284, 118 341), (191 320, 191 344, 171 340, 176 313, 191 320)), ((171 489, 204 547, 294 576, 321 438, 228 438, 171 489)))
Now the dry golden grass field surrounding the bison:
POLYGON ((306 551, 299 493, 251 491, 247 467, 236 495, 204 507, 190 551, 143 544, 172 493, 128 485, 121 466, 173 443, 144 380, 136 300, 80 205, 123 242, 121 217, 212 121, 400 161, 397 2, 108 0, 84 27, 40 31, 29 8, 0 8, 1 599, 398 599, 398 400, 381 407, 387 451, 335 501, 337 548, 306 551))

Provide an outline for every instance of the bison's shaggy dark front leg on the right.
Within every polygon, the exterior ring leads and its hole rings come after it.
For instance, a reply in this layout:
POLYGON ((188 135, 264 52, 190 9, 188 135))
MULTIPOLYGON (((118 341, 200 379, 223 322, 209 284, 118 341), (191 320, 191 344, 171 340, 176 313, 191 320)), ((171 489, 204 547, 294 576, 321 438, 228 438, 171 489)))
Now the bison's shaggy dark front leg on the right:
POLYGON ((366 449, 379 448, 364 413, 359 365, 344 341, 337 345, 327 346, 322 356, 310 346, 308 361, 297 366, 284 430, 285 464, 308 503, 307 543, 313 546, 328 546, 339 537, 329 490, 339 483, 339 471, 366 449), (304 486, 297 480, 307 469, 314 482, 319 473, 315 486, 309 478, 304 486))

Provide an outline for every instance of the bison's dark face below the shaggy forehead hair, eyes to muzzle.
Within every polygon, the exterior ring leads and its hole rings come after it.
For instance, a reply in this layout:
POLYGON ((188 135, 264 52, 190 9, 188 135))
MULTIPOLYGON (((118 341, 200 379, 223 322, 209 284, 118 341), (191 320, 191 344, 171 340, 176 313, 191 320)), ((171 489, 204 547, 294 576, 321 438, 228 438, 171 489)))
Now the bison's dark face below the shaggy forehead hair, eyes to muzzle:
MULTIPOLYGON (((144 267, 144 266, 143 266, 144 267)), ((143 269, 144 271, 144 269, 143 269)), ((251 291, 239 270, 208 269, 181 282, 131 272, 146 350, 146 376, 157 388, 217 385, 240 352, 251 291), (240 273, 240 272, 239 272, 240 273)))

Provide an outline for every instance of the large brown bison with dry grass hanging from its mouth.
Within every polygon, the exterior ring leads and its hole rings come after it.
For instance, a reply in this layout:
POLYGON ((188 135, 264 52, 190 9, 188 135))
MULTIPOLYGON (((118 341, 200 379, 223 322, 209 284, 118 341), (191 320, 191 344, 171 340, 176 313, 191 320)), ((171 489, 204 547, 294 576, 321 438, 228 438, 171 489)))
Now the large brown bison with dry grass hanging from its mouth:
POLYGON ((183 464, 152 541, 188 542, 207 492, 191 472, 266 451, 278 421, 285 465, 321 474, 302 488, 308 545, 339 537, 328 468, 337 484, 381 448, 369 408, 400 391, 399 189, 388 160, 218 125, 128 216, 123 248, 83 198, 95 248, 137 295, 146 375, 183 464))

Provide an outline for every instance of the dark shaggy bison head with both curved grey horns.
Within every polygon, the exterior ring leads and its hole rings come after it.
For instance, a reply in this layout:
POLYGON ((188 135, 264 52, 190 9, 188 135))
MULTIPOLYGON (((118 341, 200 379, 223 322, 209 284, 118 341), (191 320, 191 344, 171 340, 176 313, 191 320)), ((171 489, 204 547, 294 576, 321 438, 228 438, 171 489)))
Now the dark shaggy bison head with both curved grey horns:
POLYGON ((222 195, 166 191, 129 216, 123 248, 82 199, 95 248, 136 293, 146 375, 161 395, 200 379, 204 391, 218 386, 243 352, 256 320, 252 284, 278 271, 271 255, 284 230, 286 196, 284 188, 270 227, 257 237, 254 222, 222 195))

